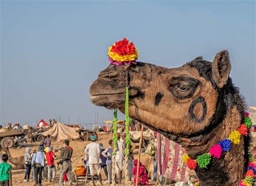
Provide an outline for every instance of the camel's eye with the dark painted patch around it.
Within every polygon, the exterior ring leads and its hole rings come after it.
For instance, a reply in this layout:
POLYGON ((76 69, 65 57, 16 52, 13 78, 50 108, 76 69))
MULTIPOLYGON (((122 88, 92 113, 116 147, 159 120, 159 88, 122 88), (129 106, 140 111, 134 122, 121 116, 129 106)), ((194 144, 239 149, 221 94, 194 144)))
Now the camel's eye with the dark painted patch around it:
POLYGON ((173 77, 169 82, 169 90, 174 97, 185 99, 193 96, 199 84, 200 81, 192 77, 173 77))

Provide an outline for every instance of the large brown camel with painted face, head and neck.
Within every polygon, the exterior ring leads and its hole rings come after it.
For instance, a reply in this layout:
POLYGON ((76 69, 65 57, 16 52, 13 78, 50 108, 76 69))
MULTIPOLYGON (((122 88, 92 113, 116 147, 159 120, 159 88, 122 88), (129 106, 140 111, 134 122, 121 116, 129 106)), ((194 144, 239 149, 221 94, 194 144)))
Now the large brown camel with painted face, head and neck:
MULTIPOLYGON (((246 105, 230 78, 227 50, 213 62, 201 56, 178 68, 150 63, 109 65, 90 87, 91 102, 125 113, 129 85, 129 115, 178 142, 192 159, 228 138, 244 118, 246 105)), ((250 137, 242 136, 207 168, 197 166, 200 185, 238 185, 248 164, 250 137)))

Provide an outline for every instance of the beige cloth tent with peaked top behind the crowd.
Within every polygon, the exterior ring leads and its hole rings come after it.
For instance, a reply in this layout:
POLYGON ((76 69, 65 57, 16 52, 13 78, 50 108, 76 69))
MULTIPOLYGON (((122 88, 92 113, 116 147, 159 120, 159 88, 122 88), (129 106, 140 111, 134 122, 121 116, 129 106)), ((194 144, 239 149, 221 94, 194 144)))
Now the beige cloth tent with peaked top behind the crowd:
POLYGON ((65 139, 77 139, 79 134, 76 132, 76 128, 66 126, 57 122, 48 131, 42 133, 44 136, 50 135, 54 141, 62 141, 65 139))

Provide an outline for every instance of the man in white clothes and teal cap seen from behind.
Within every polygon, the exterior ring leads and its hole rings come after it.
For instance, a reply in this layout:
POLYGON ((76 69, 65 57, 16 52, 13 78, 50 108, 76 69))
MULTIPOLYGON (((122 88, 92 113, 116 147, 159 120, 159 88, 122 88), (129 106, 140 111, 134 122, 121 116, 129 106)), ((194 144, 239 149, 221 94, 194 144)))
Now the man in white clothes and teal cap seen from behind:
POLYGON ((94 183, 94 175, 95 171, 99 177, 99 183, 102 185, 102 176, 100 175, 100 163, 102 163, 102 160, 100 160, 100 149, 99 144, 96 144, 96 136, 91 135, 90 137, 91 141, 90 144, 86 146, 84 149, 84 153, 89 159, 89 168, 90 168, 90 174, 92 179, 92 185, 95 185, 94 183))

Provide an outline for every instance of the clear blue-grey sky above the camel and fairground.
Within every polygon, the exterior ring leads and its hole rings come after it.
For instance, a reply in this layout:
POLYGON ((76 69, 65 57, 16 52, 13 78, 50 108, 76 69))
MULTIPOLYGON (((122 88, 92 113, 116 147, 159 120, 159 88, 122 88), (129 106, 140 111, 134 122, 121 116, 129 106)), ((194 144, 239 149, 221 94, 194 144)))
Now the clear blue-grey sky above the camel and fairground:
MULTIPOLYGON (((228 49, 231 77, 255 98, 254 1, 1 1, 1 124, 112 119, 89 87, 124 37, 139 61, 179 67, 228 49)), ((123 115, 119 115, 123 119, 123 115)))

